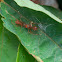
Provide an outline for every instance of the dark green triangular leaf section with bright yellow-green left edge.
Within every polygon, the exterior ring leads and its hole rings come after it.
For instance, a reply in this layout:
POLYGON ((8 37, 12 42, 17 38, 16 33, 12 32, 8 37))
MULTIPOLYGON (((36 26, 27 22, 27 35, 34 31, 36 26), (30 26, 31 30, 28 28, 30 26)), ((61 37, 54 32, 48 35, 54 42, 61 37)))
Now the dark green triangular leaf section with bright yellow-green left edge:
POLYGON ((16 62, 37 62, 20 44, 18 48, 17 61, 16 62))

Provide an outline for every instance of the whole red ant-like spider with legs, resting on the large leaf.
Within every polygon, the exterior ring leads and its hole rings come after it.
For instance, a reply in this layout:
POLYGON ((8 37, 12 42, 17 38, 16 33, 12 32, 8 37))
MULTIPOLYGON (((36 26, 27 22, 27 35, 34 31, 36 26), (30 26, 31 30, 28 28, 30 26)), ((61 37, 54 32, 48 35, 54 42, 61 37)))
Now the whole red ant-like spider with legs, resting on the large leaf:
MULTIPOLYGON (((12 16, 12 15, 11 15, 12 16)), ((14 17, 15 18, 15 17, 14 17)), ((26 24, 26 23, 24 23, 24 22, 22 22, 21 20, 19 21, 18 19, 15 21, 15 23, 17 24, 17 25, 19 25, 19 26, 23 26, 24 28, 27 28, 28 29, 28 32, 29 32, 29 30, 31 31, 31 30, 34 30, 34 31, 37 31, 37 26, 33 26, 33 24, 35 24, 35 23, 33 23, 33 22, 31 22, 30 24, 26 24)), ((36 34, 37 35, 37 34, 36 34)))

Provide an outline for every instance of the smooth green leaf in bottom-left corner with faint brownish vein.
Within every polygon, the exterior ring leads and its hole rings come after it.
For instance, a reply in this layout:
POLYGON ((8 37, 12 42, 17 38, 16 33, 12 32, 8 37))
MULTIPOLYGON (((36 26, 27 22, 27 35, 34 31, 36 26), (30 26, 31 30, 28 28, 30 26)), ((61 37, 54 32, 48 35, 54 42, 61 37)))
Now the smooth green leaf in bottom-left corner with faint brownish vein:
POLYGON ((0 19, 0 62, 16 62, 18 40, 7 31, 0 19))

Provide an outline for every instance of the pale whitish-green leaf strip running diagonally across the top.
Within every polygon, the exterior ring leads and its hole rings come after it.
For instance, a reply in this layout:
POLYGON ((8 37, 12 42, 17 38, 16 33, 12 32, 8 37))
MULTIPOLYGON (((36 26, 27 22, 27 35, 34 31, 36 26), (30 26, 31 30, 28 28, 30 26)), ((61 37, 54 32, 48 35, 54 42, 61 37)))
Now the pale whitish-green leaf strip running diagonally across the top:
POLYGON ((51 13, 50 11, 46 10, 44 7, 38 5, 38 4, 35 4, 33 3, 32 1, 30 0, 14 0, 19 6, 21 7, 28 7, 30 9, 34 9, 36 11, 41 11, 45 14, 47 14, 48 16, 50 16, 51 18, 53 18, 54 20, 58 21, 59 23, 62 23, 62 21, 57 17, 55 16, 53 13, 51 13), (28 2, 28 3, 27 3, 28 2))

